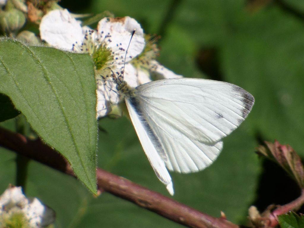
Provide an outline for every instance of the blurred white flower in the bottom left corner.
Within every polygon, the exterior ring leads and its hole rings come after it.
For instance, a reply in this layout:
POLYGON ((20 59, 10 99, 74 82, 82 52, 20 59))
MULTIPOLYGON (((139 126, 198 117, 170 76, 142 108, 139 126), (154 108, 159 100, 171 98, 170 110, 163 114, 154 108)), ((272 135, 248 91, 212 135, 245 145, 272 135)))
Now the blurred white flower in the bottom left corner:
POLYGON ((0 195, 0 227, 16 218, 22 227, 39 228, 53 223, 55 213, 37 198, 27 199, 21 187, 9 187, 0 195))

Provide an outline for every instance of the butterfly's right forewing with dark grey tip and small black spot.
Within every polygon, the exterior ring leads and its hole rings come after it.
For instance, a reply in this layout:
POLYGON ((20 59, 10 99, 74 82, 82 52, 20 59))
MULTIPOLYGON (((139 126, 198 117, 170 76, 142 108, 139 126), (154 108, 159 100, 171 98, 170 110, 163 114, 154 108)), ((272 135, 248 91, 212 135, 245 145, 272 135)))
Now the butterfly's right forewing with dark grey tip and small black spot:
POLYGON ((136 95, 152 119, 161 117, 188 138, 209 144, 236 129, 254 103, 252 95, 236 85, 194 78, 149 82, 138 86, 136 95))

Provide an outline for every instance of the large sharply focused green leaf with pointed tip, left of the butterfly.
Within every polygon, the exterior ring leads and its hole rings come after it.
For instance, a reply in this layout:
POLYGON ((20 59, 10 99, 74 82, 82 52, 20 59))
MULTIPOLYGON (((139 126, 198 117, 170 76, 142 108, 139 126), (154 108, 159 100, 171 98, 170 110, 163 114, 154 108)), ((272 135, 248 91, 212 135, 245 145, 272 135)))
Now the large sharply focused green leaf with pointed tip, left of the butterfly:
POLYGON ((96 83, 88 54, 0 40, 0 92, 96 193, 96 83))

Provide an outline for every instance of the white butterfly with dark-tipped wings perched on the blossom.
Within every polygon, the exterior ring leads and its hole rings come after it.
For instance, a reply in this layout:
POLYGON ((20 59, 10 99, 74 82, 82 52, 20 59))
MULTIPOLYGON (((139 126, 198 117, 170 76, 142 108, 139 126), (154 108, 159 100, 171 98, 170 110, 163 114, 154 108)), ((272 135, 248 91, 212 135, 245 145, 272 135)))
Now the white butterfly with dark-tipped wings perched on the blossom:
POLYGON ((216 159, 222 138, 247 117, 254 97, 227 82, 196 78, 151 81, 135 89, 114 78, 140 143, 159 180, 174 194, 170 171, 200 171, 216 159))

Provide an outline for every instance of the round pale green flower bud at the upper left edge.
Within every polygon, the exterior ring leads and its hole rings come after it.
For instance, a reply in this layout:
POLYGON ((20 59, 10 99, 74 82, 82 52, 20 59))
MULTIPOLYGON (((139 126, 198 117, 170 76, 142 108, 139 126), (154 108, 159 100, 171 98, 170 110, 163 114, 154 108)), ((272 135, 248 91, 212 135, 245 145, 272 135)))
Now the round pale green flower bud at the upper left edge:
POLYGON ((0 29, 4 33, 16 33, 25 24, 25 16, 18 9, 0 12, 0 29))

